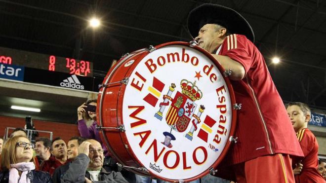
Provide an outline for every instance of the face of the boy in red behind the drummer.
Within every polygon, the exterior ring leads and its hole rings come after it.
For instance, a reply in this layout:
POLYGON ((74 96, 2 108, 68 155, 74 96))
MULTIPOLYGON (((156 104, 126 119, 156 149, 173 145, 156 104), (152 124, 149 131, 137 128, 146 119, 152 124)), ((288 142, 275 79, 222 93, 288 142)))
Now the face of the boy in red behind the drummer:
POLYGON ((286 110, 295 132, 298 132, 301 128, 306 125, 305 123, 309 121, 310 115, 305 116, 299 106, 289 106, 286 108, 286 110))

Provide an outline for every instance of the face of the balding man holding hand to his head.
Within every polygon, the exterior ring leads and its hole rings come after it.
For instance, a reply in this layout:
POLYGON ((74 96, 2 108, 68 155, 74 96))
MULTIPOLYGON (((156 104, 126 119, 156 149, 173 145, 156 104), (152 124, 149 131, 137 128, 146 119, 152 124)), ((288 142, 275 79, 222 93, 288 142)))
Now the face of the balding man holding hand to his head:
POLYGON ((89 154, 88 157, 90 159, 88 168, 92 170, 98 170, 103 166, 103 149, 99 142, 97 141, 89 141, 89 154), (102 153, 98 152, 101 149, 102 153), (93 151, 93 152, 92 152, 93 151))

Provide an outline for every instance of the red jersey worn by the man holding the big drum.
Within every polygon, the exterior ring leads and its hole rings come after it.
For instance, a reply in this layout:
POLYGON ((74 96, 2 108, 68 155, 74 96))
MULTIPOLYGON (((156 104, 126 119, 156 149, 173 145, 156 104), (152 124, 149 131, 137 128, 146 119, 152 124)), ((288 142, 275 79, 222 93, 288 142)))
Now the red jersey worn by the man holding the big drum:
POLYGON ((239 139, 228 152, 230 163, 275 153, 303 156, 285 106, 258 48, 245 36, 233 34, 224 39, 217 54, 239 62, 245 70, 242 80, 231 80, 236 103, 241 103, 242 109, 237 111, 234 136, 239 139))

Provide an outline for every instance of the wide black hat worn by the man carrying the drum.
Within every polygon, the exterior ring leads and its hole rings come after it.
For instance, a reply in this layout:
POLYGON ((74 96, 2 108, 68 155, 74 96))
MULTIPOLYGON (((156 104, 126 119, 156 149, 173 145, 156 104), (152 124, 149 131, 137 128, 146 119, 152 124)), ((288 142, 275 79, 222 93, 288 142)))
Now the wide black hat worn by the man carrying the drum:
POLYGON ((255 35, 250 24, 234 9, 218 4, 205 3, 190 11, 187 28, 195 38, 205 24, 218 24, 225 27, 231 34, 240 34, 254 42, 255 35))

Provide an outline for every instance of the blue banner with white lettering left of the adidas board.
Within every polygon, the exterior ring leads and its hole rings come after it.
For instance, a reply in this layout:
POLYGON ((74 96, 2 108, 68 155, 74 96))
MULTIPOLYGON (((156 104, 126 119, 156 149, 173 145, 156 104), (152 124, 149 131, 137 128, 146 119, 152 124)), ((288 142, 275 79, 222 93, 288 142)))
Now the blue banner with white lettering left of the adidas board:
POLYGON ((0 63, 0 78, 24 80, 24 67, 0 63))

